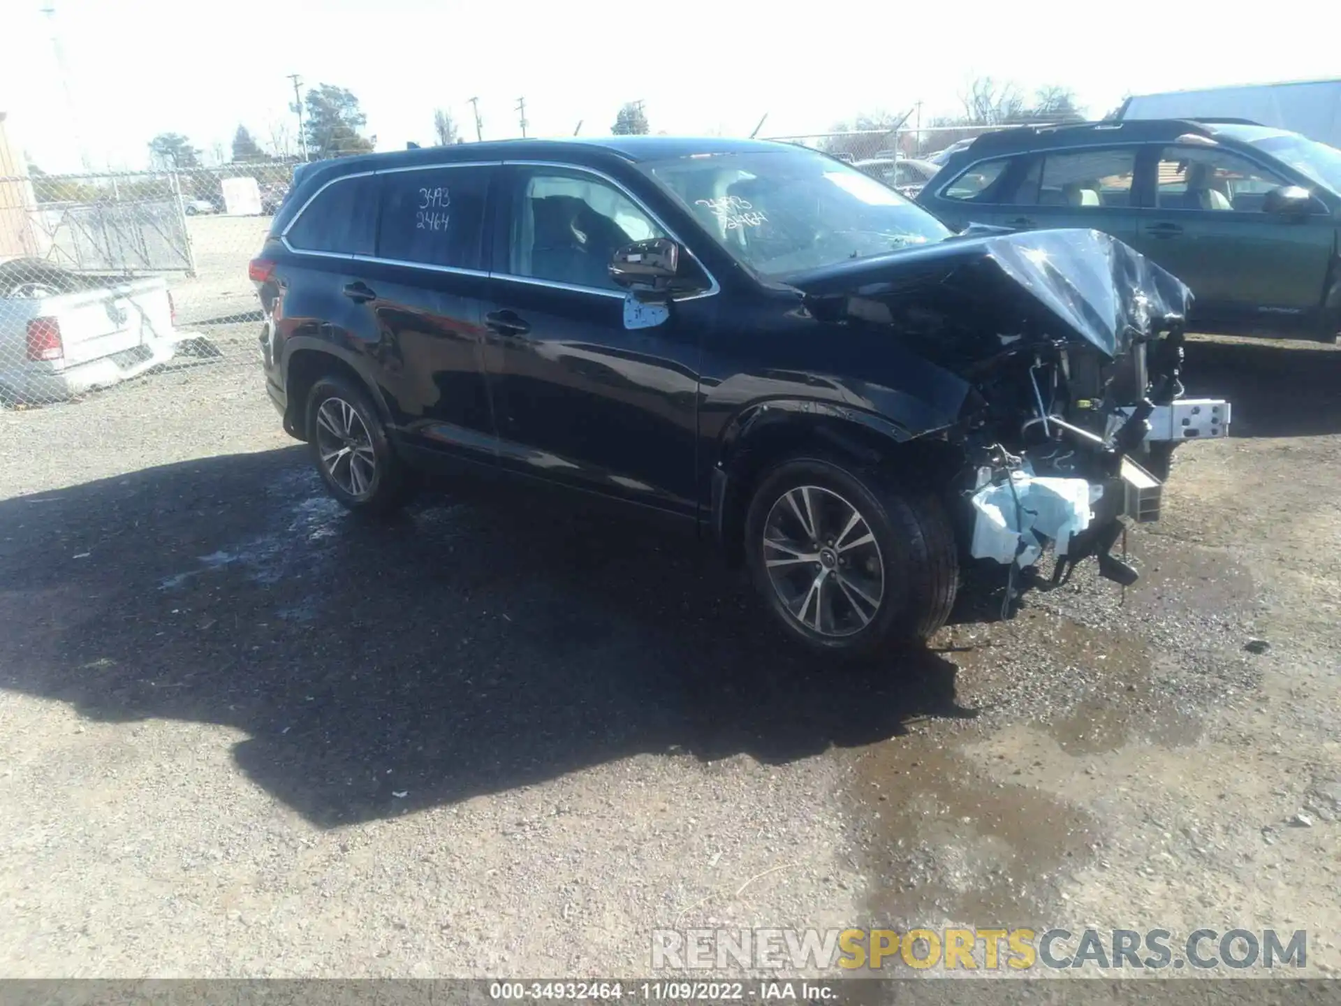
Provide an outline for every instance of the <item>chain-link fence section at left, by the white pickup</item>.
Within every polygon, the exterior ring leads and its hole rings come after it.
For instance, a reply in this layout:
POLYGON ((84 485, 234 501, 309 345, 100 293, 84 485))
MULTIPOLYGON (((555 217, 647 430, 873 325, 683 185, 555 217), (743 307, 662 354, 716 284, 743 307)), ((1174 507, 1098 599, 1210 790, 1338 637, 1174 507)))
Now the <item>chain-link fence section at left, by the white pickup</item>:
POLYGON ((0 408, 255 368, 247 262, 292 165, 0 177, 0 408))

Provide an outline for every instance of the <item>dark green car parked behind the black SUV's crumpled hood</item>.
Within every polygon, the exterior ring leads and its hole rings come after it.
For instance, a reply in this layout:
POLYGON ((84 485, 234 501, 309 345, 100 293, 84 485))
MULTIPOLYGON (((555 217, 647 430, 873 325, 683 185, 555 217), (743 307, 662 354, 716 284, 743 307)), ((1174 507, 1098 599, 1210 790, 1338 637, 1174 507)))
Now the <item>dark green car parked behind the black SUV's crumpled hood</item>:
POLYGON ((919 196, 955 227, 1092 227, 1187 283, 1207 331, 1341 330, 1341 150, 1240 122, 987 133, 919 196))

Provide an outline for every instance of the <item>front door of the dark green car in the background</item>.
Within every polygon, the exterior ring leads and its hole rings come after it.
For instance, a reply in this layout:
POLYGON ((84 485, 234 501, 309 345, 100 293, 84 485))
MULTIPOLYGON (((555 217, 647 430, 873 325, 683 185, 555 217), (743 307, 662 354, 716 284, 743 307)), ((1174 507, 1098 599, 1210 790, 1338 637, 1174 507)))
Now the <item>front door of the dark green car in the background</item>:
POLYGON ((1321 207, 1306 217, 1263 212, 1265 194, 1287 184, 1232 150, 1151 146, 1132 244, 1192 288, 1203 322, 1303 323, 1321 302, 1336 227, 1321 207))

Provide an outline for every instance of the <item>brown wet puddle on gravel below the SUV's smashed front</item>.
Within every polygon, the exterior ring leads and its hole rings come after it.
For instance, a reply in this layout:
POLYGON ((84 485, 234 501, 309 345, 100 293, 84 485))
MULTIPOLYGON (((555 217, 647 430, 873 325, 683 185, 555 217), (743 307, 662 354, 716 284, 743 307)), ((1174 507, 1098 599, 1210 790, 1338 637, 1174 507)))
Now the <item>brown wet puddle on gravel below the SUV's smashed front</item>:
POLYGON ((1102 842, 1089 812, 1031 783, 1078 774, 1096 755, 1124 758, 1132 746, 1193 743, 1202 724, 1159 685, 1175 668, 1130 634, 1026 609, 1012 622, 947 636, 970 706, 1006 676, 1016 688, 1046 689, 1049 702, 1034 716, 1025 702, 1002 706, 1003 726, 1034 738, 1029 751, 987 758, 982 728, 943 732, 932 723, 856 754, 850 798, 868 908, 896 928, 1021 926, 1041 917, 1102 842))

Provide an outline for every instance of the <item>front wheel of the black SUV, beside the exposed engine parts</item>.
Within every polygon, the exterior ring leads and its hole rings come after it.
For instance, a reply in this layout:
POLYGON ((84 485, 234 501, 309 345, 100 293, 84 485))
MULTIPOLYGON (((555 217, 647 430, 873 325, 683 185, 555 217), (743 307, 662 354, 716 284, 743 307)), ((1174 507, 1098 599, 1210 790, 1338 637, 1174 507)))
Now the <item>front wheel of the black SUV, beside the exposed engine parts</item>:
POLYGON ((791 459, 760 480, 746 561, 789 634, 846 656, 931 636, 959 581, 953 531, 932 494, 821 456, 791 459))

